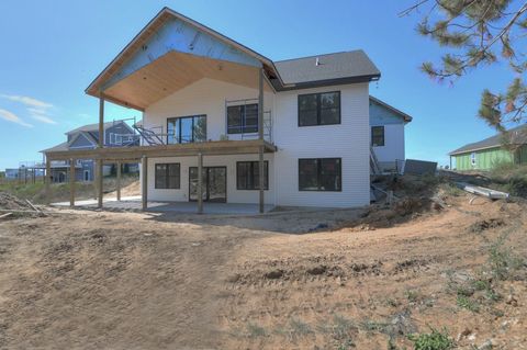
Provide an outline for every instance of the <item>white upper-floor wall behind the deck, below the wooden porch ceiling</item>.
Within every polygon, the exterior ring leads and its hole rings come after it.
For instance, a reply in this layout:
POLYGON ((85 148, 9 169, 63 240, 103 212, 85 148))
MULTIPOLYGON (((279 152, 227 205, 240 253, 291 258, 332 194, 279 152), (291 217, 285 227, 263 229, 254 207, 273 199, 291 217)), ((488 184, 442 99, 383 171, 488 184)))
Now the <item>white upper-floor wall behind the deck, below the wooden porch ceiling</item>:
MULTIPOLYGON (((256 79, 258 76, 255 74, 256 79)), ((205 114, 206 139, 220 140, 222 135, 227 135, 225 100, 242 99, 258 99, 258 90, 204 78, 149 105, 144 113, 143 124, 146 128, 162 126, 166 133, 169 117, 205 114)), ((265 111, 271 110, 272 103, 273 94, 266 92, 265 111)), ((242 138, 239 134, 227 136, 229 139, 242 138)), ((254 134, 253 138, 257 137, 258 134, 254 134)))

